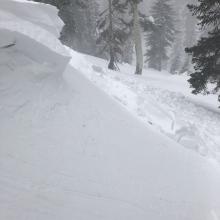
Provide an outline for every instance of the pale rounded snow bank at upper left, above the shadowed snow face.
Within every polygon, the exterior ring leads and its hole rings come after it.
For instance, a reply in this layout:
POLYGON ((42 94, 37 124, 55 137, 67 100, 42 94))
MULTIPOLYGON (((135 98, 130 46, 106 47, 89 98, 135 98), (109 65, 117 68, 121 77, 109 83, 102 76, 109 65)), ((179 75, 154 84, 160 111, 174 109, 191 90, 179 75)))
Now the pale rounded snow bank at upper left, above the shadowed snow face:
POLYGON ((20 32, 56 53, 68 56, 57 39, 62 23, 56 14, 57 9, 49 5, 1 0, 0 28, 20 32))

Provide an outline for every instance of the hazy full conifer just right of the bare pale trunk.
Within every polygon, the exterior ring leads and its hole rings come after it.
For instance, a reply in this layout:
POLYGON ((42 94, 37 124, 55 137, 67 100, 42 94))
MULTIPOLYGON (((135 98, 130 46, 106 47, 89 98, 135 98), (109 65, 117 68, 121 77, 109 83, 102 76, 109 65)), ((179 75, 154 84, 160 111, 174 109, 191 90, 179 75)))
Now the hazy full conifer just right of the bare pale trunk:
POLYGON ((146 62, 150 68, 162 70, 168 60, 167 49, 174 42, 176 33, 174 11, 170 0, 157 0, 151 8, 154 27, 146 34, 146 62))

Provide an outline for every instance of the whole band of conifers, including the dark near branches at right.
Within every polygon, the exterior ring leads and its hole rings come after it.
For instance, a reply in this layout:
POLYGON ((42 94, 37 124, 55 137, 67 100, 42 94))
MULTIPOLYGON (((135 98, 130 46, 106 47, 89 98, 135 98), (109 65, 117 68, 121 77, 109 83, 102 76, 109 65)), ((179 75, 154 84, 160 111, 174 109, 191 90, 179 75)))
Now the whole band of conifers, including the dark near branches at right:
POLYGON ((190 0, 187 7, 177 7, 175 0, 154 0, 147 14, 141 10, 143 0, 35 1, 59 9, 64 44, 109 60, 109 69, 135 61, 136 74, 144 65, 173 74, 188 72, 195 94, 220 89, 219 0, 190 0), (208 83, 215 88, 208 89, 208 83))

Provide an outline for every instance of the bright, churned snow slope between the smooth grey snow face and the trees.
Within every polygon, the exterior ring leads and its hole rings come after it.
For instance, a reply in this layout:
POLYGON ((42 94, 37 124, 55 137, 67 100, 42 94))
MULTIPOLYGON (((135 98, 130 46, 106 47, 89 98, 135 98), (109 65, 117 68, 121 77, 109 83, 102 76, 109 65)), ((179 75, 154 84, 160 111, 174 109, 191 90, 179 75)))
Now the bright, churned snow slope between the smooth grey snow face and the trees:
POLYGON ((192 95, 188 76, 144 70, 134 75, 130 65, 120 72, 107 62, 69 50, 71 64, 101 90, 145 124, 186 148, 220 162, 220 110, 217 95, 192 95))

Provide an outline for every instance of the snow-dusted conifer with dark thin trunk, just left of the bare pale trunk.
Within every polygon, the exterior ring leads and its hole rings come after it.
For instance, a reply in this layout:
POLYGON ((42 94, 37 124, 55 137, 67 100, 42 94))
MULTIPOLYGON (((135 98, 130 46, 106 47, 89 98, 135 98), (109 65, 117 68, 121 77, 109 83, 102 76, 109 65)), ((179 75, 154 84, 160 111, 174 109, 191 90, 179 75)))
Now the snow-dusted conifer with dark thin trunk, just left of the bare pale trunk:
POLYGON ((117 62, 123 56, 122 48, 130 34, 129 23, 124 20, 126 9, 126 4, 120 0, 108 0, 108 6, 100 14, 97 24, 97 44, 102 47, 100 53, 107 54, 111 70, 117 69, 117 62))

